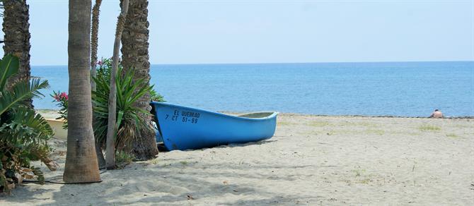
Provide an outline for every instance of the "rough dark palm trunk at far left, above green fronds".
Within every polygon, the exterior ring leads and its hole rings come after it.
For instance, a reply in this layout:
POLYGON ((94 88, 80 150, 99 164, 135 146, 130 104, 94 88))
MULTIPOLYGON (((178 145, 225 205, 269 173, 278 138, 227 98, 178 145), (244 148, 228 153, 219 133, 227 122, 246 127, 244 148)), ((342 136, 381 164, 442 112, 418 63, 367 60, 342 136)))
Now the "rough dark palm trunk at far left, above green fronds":
MULTIPOLYGON (((18 74, 11 77, 9 85, 19 80, 30 79, 30 19, 29 6, 26 1, 4 0, 4 54, 18 56, 20 67, 18 74)), ((27 104, 33 107, 33 100, 27 104)))

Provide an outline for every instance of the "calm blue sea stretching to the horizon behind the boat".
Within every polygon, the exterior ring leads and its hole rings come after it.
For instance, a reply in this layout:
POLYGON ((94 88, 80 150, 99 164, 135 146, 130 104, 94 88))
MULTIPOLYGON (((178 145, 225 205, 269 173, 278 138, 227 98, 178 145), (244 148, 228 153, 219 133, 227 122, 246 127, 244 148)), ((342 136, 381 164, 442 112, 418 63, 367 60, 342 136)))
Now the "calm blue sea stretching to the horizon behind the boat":
MULTIPOLYGON (((33 66, 50 81, 37 109, 57 109, 67 66, 33 66)), ((212 111, 328 115, 474 116, 474 61, 152 65, 151 84, 168 103, 212 111)))

